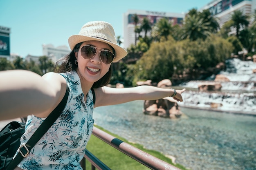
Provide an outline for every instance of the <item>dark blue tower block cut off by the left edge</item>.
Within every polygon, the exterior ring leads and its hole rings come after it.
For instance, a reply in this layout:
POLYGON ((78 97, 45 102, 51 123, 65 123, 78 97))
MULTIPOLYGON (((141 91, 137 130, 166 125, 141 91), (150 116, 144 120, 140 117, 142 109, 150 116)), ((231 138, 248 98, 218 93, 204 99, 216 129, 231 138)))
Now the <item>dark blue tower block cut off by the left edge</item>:
POLYGON ((0 26, 0 57, 9 60, 10 57, 10 33, 11 28, 0 26))

